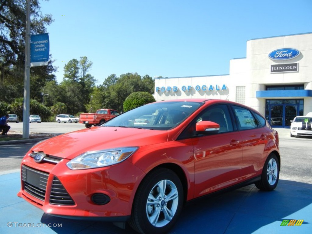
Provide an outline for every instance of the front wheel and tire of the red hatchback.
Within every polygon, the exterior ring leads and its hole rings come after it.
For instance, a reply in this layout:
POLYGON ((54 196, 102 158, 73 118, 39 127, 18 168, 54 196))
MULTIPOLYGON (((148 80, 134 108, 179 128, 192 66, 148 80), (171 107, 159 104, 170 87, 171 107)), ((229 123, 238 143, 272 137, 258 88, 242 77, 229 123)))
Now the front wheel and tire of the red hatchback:
POLYGON ((140 184, 129 224, 140 233, 166 233, 177 222, 183 199, 178 176, 169 169, 158 168, 140 184))

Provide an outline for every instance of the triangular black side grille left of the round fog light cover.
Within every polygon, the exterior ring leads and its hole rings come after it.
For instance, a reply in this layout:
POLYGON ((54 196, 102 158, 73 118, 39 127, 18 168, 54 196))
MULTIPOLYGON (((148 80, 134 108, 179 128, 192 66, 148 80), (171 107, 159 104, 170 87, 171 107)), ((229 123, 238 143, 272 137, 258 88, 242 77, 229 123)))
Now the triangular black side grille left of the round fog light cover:
POLYGON ((50 203, 55 205, 75 205, 75 202, 56 176, 54 176, 52 182, 50 203))

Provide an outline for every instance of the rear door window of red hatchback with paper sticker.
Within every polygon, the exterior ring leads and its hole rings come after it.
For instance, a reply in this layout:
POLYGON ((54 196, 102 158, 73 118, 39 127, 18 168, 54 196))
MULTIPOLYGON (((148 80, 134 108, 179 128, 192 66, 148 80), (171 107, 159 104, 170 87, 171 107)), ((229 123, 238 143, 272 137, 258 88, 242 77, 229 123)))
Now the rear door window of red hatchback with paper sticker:
POLYGON ((233 105, 234 114, 238 120, 238 127, 240 130, 254 129, 257 126, 256 119, 251 114, 251 111, 241 106, 233 105))

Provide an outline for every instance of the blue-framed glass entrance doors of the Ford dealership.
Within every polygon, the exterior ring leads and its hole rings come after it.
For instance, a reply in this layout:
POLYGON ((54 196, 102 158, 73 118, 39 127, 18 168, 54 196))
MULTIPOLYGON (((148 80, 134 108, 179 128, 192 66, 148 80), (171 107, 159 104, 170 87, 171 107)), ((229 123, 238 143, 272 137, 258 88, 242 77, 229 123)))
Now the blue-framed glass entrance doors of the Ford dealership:
POLYGON ((289 127, 290 120, 299 115, 299 106, 291 104, 271 104, 269 109, 269 123, 274 127, 289 127))

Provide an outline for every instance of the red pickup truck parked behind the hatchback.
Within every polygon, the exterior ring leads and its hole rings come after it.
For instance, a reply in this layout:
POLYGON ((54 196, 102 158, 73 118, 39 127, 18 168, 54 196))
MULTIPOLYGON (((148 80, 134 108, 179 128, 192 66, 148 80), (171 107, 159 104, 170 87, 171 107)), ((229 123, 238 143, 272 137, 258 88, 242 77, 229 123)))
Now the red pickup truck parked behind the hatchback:
POLYGON ((113 119, 120 113, 117 110, 100 109, 96 113, 82 113, 80 114, 79 123, 85 124, 86 128, 90 128, 92 125, 103 124, 109 119, 113 119))

